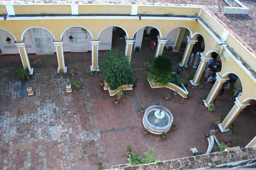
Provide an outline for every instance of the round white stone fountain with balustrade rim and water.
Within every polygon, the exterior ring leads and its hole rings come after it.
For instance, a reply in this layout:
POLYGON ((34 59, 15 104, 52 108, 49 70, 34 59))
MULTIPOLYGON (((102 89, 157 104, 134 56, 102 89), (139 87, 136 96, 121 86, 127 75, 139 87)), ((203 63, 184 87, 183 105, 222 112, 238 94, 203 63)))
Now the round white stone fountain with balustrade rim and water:
POLYGON ((148 131, 160 135, 170 130, 173 117, 167 108, 153 105, 146 109, 142 122, 148 131))

